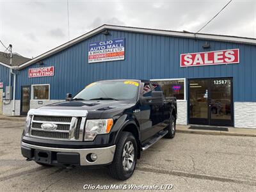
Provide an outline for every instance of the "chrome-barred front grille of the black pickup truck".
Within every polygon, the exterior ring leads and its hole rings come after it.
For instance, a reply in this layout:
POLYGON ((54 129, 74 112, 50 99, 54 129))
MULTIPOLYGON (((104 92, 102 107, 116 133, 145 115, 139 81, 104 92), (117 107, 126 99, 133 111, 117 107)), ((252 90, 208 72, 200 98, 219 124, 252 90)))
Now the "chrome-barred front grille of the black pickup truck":
POLYGON ((83 141, 84 124, 85 117, 33 115, 29 133, 45 139, 83 141), (42 129, 45 123, 53 124, 53 129, 42 129))

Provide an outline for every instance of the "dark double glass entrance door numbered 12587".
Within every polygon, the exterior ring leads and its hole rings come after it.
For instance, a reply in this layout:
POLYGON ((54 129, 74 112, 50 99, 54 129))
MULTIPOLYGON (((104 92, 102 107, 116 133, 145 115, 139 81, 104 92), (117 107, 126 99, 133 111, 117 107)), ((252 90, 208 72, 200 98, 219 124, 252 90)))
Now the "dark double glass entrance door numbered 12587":
POLYGON ((232 79, 189 80, 189 124, 233 126, 232 79))

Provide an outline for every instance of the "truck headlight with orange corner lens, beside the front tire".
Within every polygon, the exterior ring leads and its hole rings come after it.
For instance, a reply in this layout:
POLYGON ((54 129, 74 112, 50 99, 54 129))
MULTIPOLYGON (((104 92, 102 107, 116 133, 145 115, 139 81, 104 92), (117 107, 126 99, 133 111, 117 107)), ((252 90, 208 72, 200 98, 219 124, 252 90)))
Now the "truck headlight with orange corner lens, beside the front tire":
POLYGON ((86 120, 84 141, 94 140, 97 134, 109 133, 112 125, 112 118, 86 120))

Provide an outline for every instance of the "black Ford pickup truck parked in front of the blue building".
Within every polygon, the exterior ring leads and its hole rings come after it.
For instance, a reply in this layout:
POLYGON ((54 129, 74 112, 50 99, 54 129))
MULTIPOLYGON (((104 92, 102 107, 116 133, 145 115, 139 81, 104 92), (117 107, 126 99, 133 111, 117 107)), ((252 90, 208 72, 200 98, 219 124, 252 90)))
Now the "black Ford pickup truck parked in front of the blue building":
POLYGON ((88 84, 67 101, 31 109, 21 152, 42 166, 108 166, 115 179, 134 172, 141 151, 175 136, 177 104, 144 80, 88 84))

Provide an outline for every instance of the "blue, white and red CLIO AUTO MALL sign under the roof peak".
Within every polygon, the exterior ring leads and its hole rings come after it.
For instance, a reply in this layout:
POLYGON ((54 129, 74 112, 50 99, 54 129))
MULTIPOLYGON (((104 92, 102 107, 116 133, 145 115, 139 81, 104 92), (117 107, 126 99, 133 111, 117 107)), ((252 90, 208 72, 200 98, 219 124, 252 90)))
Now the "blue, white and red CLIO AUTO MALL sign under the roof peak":
POLYGON ((88 63, 124 60, 125 38, 115 38, 88 45, 88 63))

